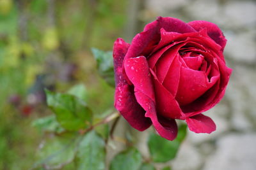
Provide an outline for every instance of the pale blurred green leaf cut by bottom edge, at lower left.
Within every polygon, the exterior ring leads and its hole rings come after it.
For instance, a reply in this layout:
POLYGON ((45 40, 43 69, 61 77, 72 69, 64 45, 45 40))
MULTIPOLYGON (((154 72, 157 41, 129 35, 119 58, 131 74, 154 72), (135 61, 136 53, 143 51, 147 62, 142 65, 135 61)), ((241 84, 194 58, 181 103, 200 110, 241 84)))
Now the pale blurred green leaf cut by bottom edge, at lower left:
POLYGON ((51 136, 40 144, 40 150, 36 153, 35 167, 47 166, 54 169, 72 162, 76 154, 76 145, 79 138, 74 134, 64 136, 51 136))

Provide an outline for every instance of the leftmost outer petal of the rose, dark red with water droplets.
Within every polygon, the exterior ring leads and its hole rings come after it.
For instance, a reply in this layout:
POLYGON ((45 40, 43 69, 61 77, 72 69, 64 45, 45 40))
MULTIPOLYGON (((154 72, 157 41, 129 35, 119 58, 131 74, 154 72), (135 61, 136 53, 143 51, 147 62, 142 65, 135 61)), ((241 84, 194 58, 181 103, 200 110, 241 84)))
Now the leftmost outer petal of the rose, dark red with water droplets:
POLYGON ((115 108, 132 127, 144 131, 152 122, 145 117, 145 110, 136 101, 133 89, 128 85, 122 72, 123 60, 128 48, 129 44, 125 43, 123 39, 118 38, 115 41, 113 49, 116 80, 115 108))

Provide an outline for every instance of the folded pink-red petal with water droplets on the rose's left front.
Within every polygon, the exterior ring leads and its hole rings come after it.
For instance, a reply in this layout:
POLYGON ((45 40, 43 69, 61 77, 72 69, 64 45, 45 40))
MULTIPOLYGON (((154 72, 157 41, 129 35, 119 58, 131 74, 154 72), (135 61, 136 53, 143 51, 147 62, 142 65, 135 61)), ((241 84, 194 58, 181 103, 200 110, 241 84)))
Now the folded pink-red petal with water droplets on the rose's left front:
POLYGON ((125 73, 134 85, 135 92, 143 92, 155 101, 154 87, 152 85, 147 59, 143 56, 126 59, 124 61, 125 73))

